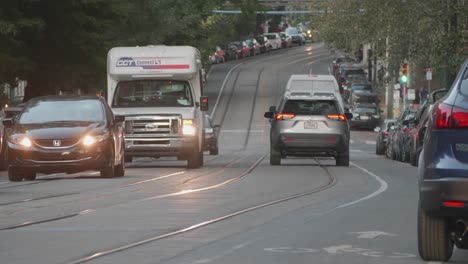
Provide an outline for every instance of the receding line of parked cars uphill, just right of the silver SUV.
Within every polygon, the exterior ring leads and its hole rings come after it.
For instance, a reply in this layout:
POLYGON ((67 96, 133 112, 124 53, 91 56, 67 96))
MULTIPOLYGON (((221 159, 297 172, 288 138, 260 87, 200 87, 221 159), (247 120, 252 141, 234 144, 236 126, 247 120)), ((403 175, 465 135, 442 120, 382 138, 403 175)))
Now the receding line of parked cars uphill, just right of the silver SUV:
POLYGON ((341 55, 332 65, 347 109, 353 114, 353 129, 374 129, 380 123, 379 95, 368 80, 367 73, 354 58, 341 55))

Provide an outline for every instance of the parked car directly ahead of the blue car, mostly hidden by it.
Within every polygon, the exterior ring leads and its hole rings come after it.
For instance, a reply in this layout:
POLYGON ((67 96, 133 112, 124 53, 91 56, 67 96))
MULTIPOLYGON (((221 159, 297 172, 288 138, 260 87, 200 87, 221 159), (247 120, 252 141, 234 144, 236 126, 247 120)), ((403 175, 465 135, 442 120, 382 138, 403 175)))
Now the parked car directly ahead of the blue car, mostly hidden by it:
POLYGON ((408 138, 405 142, 405 149, 409 152, 409 162, 413 166, 418 166, 419 154, 422 150, 427 122, 432 113, 434 103, 447 94, 446 89, 434 91, 429 99, 421 106, 412 120, 408 120, 408 126, 411 128, 408 138))

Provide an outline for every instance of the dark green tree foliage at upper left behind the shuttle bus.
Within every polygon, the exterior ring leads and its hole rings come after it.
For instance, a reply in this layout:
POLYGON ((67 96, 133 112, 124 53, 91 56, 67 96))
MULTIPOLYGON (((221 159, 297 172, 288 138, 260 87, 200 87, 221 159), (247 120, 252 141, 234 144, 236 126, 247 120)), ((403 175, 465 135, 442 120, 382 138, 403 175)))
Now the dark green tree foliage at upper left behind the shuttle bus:
POLYGON ((110 48, 191 45, 206 58, 216 44, 254 33, 257 7, 257 0, 1 1, 0 83, 26 79, 30 96, 105 89, 110 48), (243 13, 212 13, 225 7, 243 13))

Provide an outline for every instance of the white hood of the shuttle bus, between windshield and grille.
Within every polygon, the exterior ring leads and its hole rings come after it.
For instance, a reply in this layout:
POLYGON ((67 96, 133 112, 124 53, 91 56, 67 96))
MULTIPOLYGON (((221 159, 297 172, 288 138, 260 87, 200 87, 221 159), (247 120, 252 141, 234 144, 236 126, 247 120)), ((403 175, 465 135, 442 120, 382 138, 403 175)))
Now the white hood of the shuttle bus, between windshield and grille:
POLYGON ((195 107, 132 107, 112 108, 116 115, 140 116, 140 115, 182 115, 183 119, 193 119, 195 107))

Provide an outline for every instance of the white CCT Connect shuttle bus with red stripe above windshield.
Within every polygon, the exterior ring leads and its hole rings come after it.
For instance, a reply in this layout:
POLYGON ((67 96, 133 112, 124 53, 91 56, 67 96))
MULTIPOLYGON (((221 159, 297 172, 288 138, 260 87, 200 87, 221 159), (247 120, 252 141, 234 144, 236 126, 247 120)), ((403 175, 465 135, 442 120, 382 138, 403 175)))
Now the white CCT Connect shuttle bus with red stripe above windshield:
POLYGON ((190 46, 116 47, 107 55, 107 100, 125 116, 125 157, 175 156, 203 165, 204 71, 190 46))

